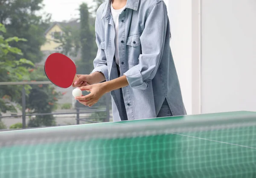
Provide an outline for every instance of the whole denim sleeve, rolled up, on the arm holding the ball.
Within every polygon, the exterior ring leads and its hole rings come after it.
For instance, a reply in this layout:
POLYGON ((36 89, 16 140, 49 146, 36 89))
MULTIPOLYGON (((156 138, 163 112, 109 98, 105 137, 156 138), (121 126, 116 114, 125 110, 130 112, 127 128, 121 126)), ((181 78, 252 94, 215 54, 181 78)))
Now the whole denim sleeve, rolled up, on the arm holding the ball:
POLYGON ((151 7, 140 41, 142 54, 139 64, 124 73, 132 88, 147 89, 148 81, 157 73, 166 40, 168 16, 166 5, 160 1, 151 7))

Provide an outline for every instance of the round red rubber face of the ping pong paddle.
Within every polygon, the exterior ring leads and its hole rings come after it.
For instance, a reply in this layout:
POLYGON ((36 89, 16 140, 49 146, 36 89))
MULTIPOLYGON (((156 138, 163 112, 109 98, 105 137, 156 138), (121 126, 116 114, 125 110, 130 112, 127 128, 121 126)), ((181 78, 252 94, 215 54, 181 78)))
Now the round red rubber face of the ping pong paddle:
POLYGON ((56 86, 68 88, 76 77, 76 65, 67 56, 60 53, 49 55, 44 64, 47 78, 56 86))

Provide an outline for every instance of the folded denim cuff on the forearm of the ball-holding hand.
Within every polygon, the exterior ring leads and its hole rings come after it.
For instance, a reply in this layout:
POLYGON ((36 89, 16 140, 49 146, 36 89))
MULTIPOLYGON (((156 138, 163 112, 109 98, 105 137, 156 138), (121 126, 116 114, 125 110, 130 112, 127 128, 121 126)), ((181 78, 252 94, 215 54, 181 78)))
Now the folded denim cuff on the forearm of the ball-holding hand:
POLYGON ((148 83, 143 81, 143 77, 140 73, 140 70, 136 66, 129 69, 124 73, 129 85, 135 89, 147 89, 148 83))

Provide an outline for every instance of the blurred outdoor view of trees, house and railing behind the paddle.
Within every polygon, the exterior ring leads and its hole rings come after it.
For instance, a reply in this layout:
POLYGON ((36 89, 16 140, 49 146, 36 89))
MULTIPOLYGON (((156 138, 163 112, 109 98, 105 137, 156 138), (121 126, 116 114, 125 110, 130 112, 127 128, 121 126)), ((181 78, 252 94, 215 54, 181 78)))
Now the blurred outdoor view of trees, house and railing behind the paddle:
POLYGON ((89 108, 73 87, 49 82, 44 61, 53 52, 89 74, 96 56, 95 14, 104 0, 0 0, 0 129, 111 121, 105 95, 89 108))

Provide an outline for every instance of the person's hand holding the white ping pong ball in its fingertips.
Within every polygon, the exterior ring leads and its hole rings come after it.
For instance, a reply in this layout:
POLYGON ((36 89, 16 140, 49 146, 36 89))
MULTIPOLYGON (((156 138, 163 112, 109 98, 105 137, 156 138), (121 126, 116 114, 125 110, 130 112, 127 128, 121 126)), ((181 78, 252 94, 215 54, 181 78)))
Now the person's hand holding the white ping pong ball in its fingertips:
POLYGON ((82 91, 90 91, 90 94, 81 97, 76 97, 76 100, 78 100, 85 106, 89 107, 96 104, 99 101, 99 99, 107 92, 103 83, 97 83, 89 86, 81 86, 80 89, 82 91))

